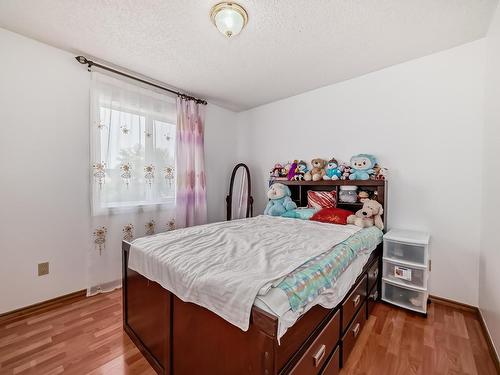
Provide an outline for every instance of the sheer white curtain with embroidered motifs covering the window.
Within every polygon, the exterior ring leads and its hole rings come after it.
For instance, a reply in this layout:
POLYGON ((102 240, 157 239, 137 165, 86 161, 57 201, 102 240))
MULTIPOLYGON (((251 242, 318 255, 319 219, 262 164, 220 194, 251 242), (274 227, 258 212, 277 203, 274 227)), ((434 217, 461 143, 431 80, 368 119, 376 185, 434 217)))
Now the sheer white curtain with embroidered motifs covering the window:
POLYGON ((121 241, 175 226, 175 98, 92 72, 88 293, 121 285, 121 241))

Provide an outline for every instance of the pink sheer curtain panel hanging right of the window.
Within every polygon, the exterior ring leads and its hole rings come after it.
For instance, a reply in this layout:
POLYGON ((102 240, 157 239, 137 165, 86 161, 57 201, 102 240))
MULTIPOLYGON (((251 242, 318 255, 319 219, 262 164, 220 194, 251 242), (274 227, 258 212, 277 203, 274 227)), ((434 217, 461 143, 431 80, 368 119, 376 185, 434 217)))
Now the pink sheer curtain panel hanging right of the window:
POLYGON ((177 98, 175 223, 178 228, 207 222, 204 123, 204 105, 177 98))

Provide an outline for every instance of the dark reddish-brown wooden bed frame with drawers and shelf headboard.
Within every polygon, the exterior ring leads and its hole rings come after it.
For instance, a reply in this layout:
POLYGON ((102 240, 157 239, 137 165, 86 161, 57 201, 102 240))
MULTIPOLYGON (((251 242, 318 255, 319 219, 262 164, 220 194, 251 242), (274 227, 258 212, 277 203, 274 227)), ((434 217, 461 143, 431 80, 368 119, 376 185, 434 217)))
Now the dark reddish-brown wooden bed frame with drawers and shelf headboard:
MULTIPOLYGON (((385 181, 283 183, 301 205, 308 190, 338 191, 340 185, 357 185, 377 191, 385 209, 385 181)), ((354 210, 360 204, 349 206, 354 210)), ((122 249, 124 330, 158 374, 338 374, 380 295, 382 245, 339 305, 313 307, 278 344, 274 315, 254 306, 250 327, 243 332, 129 269, 130 243, 124 241, 122 249)))

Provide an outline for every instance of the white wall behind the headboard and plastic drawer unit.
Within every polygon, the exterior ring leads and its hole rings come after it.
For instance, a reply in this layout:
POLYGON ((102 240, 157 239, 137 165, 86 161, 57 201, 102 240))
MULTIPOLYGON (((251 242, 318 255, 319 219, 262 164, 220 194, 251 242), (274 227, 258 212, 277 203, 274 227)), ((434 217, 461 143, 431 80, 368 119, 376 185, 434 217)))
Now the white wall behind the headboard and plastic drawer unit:
POLYGON ((432 234, 432 293, 477 306, 483 65, 480 40, 240 113, 256 212, 275 162, 373 153, 389 227, 432 234))

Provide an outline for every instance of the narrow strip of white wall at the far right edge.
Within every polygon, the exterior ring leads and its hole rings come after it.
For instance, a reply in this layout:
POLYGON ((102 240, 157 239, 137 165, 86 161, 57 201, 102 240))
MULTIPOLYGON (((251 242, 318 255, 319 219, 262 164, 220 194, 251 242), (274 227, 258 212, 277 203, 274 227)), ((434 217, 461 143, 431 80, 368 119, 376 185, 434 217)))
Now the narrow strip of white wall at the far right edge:
POLYGON ((483 214, 479 268, 479 308, 490 335, 500 350, 500 246, 497 241, 500 211, 500 7, 486 38, 486 106, 484 128, 483 214))

